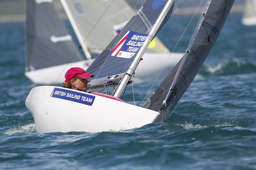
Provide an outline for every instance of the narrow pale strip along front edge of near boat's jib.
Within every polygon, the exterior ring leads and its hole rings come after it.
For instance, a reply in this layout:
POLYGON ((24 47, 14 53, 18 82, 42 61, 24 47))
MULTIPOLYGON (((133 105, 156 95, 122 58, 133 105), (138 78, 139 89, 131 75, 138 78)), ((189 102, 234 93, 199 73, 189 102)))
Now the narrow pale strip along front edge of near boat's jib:
POLYGON ((189 54, 189 52, 190 52, 190 49, 191 49, 191 47, 192 47, 192 45, 193 45, 193 43, 194 43, 194 41, 195 41, 195 39, 196 39, 196 36, 197 36, 197 33, 198 33, 200 27, 202 26, 202 22, 203 22, 203 20, 204 20, 205 14, 207 13, 207 10, 208 10, 208 8, 209 8, 211 2, 212 2, 212 0, 208 0, 208 2, 206 3, 206 6, 205 6, 205 8, 204 8, 204 11, 203 11, 203 13, 202 13, 202 15, 201 15, 201 17, 200 17, 200 19, 199 19, 199 22, 198 22, 197 26, 196 26, 195 32, 193 33, 193 35, 192 35, 192 37, 191 37, 191 40, 190 40, 190 42, 189 42, 189 44, 188 44, 188 48, 187 48, 187 50, 186 50, 186 53, 185 53, 185 55, 183 56, 183 58, 182 58, 182 60, 181 60, 181 64, 180 64, 180 66, 179 66, 179 69, 178 69, 178 71, 177 71, 177 73, 176 73, 176 75, 175 75, 175 77, 174 77, 174 80, 172 81, 172 85, 171 85, 171 87, 170 87, 170 89, 169 89, 169 92, 167 93, 166 98, 165 98, 165 100, 163 101, 163 107, 166 107, 166 100, 169 98, 169 96, 171 95, 171 92, 172 92, 172 90, 173 90, 173 87, 176 85, 176 82, 177 82, 177 80, 178 80, 178 78, 179 78, 179 76, 180 76, 180 71, 181 71, 181 69, 183 68, 184 63, 186 62, 186 59, 187 59, 188 54, 189 54))

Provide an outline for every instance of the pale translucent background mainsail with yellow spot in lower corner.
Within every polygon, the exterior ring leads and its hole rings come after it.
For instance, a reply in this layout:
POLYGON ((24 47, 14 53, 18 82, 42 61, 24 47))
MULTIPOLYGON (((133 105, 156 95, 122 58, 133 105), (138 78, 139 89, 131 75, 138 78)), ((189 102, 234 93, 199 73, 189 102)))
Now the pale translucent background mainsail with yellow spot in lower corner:
MULTIPOLYGON (((92 53, 101 53, 109 44, 109 41, 115 38, 117 33, 123 29, 128 20, 135 14, 133 9, 124 0, 62 1, 66 2, 82 39, 86 39, 86 46, 92 53), (105 10, 107 11, 104 13, 105 10), (104 15, 100 18, 103 13, 104 15)), ((169 52, 169 50, 156 37, 147 52, 169 52)))

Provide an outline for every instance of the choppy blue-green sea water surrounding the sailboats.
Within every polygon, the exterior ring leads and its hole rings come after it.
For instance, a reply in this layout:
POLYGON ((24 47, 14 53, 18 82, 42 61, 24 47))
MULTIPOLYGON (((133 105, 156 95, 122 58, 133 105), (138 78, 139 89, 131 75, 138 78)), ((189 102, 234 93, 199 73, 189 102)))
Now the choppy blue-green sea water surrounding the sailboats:
MULTIPOLYGON (((190 18, 173 16, 158 34, 170 50, 190 18)), ((185 51, 193 25, 174 52, 185 51)), ((256 26, 241 14, 229 15, 164 123, 120 132, 37 133, 25 107, 36 85, 24 76, 24 29, 0 25, 0 169, 256 169, 256 26)), ((151 85, 133 86, 137 105, 151 85)), ((134 103, 131 87, 123 100, 134 103)))

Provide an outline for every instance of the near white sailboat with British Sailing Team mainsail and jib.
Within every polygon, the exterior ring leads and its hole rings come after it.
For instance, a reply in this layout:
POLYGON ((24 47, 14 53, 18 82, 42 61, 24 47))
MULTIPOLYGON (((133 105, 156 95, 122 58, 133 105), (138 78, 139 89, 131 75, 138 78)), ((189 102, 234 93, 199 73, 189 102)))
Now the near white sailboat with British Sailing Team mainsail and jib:
POLYGON ((234 0, 207 0, 183 57, 143 107, 124 102, 120 95, 140 66, 143 53, 179 3, 178 0, 147 1, 124 26, 120 36, 116 36, 89 66, 88 72, 95 75, 90 79, 90 86, 115 84, 114 95, 57 86, 33 88, 26 99, 26 107, 34 117, 38 132, 118 131, 163 122, 204 63, 234 0), (138 44, 143 42, 136 52, 129 51, 131 40, 138 44))

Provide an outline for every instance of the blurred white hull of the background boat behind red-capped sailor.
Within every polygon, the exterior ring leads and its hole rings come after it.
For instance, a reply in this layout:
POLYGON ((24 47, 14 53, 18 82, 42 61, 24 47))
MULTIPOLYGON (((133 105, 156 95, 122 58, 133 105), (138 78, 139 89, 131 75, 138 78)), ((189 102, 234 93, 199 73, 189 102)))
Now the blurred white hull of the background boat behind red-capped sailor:
MULTIPOLYGON (((163 80, 179 62, 183 53, 172 53, 170 59, 167 61, 170 55, 171 53, 145 53, 142 57, 143 60, 135 71, 134 83, 154 82, 162 68, 164 69, 158 79, 163 80), (165 61, 167 61, 166 64, 165 61)), ((53 85, 54 83, 62 84, 65 80, 65 73, 68 69, 72 67, 80 67, 86 70, 93 61, 94 59, 69 63, 68 66, 67 64, 62 64, 54 67, 28 71, 25 72, 25 75, 35 84, 39 85, 53 85)))

